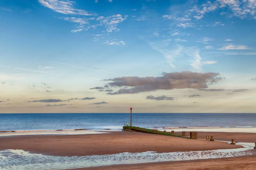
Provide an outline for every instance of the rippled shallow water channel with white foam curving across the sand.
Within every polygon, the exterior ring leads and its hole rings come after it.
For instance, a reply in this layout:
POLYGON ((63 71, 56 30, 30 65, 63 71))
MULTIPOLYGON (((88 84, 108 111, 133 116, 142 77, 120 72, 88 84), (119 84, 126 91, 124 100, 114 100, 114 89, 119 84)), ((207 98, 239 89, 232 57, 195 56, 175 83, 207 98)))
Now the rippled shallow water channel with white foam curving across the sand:
POLYGON ((0 151, 0 169, 71 169, 119 164, 227 158, 250 155, 253 153, 254 143, 237 144, 244 146, 244 148, 168 153, 156 153, 152 151, 140 153, 124 152, 111 155, 72 157, 47 156, 42 154, 29 153, 23 150, 10 149, 0 151))

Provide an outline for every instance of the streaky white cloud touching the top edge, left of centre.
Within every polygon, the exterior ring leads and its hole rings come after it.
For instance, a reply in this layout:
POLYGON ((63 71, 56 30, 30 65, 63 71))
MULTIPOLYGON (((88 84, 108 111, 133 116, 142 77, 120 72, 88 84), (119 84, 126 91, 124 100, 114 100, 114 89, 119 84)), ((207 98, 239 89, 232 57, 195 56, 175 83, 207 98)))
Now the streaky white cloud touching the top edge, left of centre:
POLYGON ((73 1, 67 0, 39 0, 43 6, 52 9, 55 12, 70 15, 96 15, 95 13, 87 12, 82 9, 76 9, 73 1))

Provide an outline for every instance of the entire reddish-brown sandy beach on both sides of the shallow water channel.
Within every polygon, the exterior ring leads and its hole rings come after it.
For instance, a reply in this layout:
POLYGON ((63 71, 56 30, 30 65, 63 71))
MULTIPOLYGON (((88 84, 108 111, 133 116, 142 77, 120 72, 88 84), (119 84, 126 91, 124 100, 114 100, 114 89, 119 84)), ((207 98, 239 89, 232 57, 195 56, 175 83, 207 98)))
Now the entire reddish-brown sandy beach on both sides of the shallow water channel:
MULTIPOLYGON (((179 132, 177 132, 179 133, 179 132)), ((187 132, 188 134, 188 132, 187 132)), ((139 132, 109 132, 86 135, 27 135, 0 137, 0 151, 19 149, 30 153, 50 156, 90 156, 109 155, 123 152, 137 153, 155 151, 188 152, 208 151, 216 149, 242 148, 241 145, 230 145, 220 141, 206 141, 206 135, 214 136, 215 140, 236 142, 254 142, 255 133, 230 133, 230 132, 198 132, 201 140, 181 137, 169 137, 139 132)), ((166 161, 141 164, 122 164, 99 166, 80 169, 254 169, 256 156, 240 156, 233 158, 201 159, 188 161, 166 161), (221 168, 220 168, 221 167, 221 168)))

